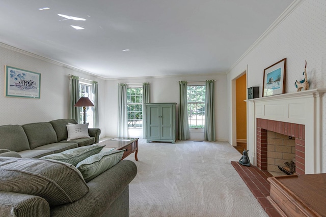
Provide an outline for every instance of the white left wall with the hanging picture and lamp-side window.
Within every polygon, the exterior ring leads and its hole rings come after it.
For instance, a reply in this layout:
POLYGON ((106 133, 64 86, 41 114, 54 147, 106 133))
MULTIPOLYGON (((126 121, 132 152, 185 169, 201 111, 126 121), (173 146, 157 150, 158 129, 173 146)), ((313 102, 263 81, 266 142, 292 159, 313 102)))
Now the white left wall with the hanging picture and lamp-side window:
MULTIPOLYGON (((0 126, 69 118, 69 74, 99 82, 99 115, 104 117, 104 103, 102 105, 105 99, 104 80, 18 51, 9 46, 0 45, 0 126), (5 97, 6 65, 41 73, 41 98, 5 97)), ((104 123, 103 119, 100 120, 100 128, 105 132, 104 123)))

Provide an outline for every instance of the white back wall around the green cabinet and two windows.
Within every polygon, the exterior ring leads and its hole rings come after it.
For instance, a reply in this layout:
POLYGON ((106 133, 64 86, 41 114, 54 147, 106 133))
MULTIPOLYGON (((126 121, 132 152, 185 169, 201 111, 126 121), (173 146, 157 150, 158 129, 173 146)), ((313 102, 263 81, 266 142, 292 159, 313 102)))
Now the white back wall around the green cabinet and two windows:
MULTIPOLYGON (((118 83, 150 83, 150 102, 151 103, 177 103, 179 107, 179 83, 178 81, 205 81, 214 79, 215 81, 215 112, 216 112, 216 139, 227 141, 227 98, 226 98, 226 74, 211 74, 200 76, 169 76, 155 78, 132 78, 106 81, 106 136, 114 137, 117 135, 117 114, 118 114, 118 83)), ((142 130, 129 130, 129 136, 143 138, 142 130)), ((192 140, 203 140, 204 133, 191 132, 192 140)))

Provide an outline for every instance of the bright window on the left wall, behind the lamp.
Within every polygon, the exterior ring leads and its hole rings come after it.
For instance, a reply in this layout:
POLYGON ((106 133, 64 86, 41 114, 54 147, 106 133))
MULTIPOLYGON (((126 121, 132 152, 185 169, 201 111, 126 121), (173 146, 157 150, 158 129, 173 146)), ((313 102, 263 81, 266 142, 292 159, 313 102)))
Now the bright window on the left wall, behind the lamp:
MULTIPOLYGON (((88 97, 91 101, 93 101, 92 97, 92 85, 79 82, 79 98, 80 97, 88 97)), ((83 108, 80 109, 79 115, 80 123, 84 123, 84 111, 83 108)), ((86 107, 86 123, 89 123, 88 127, 93 127, 93 109, 92 107, 86 107)))

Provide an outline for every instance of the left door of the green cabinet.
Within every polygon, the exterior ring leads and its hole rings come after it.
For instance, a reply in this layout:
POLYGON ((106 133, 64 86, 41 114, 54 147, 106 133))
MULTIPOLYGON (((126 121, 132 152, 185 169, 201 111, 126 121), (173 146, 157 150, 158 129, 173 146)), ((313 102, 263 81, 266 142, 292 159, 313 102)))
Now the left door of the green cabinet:
POLYGON ((160 139, 160 107, 157 105, 146 107, 146 138, 160 139))

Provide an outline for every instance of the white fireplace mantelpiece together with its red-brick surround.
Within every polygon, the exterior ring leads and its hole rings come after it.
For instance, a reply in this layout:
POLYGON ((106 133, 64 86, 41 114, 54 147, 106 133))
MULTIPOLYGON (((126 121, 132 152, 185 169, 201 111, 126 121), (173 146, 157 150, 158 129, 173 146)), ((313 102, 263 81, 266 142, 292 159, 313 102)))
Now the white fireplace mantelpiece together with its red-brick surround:
POLYGON ((324 92, 326 89, 311 89, 247 100, 253 103, 249 105, 253 108, 249 109, 249 117, 253 117, 249 121, 255 129, 253 138, 249 136, 253 165, 267 170, 267 131, 273 131, 295 138, 297 174, 321 173, 324 92))

